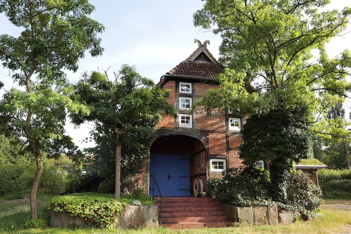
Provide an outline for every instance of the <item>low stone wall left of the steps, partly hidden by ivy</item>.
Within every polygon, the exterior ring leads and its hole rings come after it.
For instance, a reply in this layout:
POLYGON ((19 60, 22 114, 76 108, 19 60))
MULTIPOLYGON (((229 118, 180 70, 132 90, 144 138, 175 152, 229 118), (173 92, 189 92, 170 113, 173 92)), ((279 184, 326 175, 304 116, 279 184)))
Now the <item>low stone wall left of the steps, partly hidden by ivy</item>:
MULTIPOLYGON (((61 228, 85 228, 93 227, 94 224, 76 216, 71 216, 68 212, 56 212, 51 208, 50 227, 61 228)), ((141 227, 158 226, 157 206, 127 206, 119 216, 116 228, 132 229, 141 227)))

